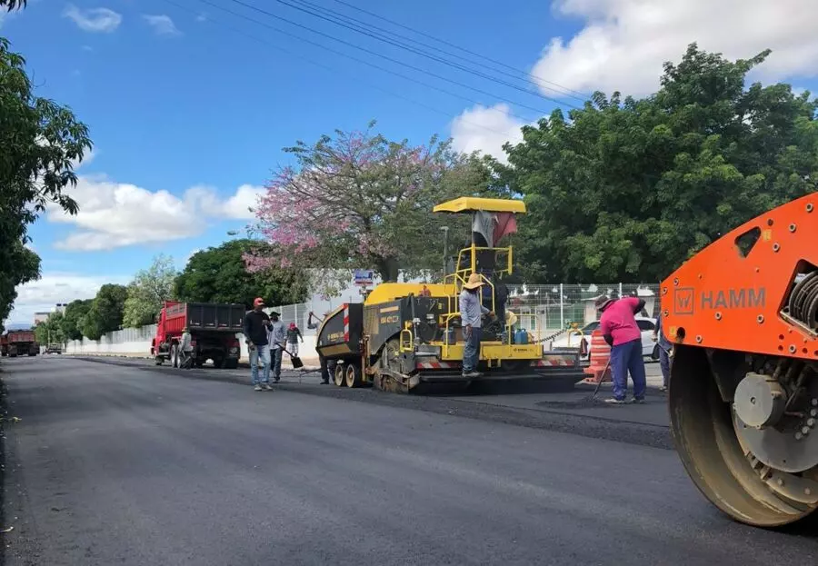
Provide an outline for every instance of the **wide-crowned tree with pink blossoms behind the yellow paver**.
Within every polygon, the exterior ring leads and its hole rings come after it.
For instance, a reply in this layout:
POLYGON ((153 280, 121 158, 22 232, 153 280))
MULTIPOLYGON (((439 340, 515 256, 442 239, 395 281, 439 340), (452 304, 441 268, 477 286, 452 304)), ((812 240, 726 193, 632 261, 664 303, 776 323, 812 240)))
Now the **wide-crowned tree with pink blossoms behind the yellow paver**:
POLYGON ((259 199, 254 229, 268 245, 246 254, 248 269, 314 269, 323 277, 314 286, 323 290, 345 283, 356 268, 374 269, 384 281, 396 281, 399 271, 439 272, 442 226, 454 231, 453 247, 468 227, 432 208, 485 194, 487 169, 447 142, 393 142, 373 127, 285 148, 294 164, 279 167, 259 199))

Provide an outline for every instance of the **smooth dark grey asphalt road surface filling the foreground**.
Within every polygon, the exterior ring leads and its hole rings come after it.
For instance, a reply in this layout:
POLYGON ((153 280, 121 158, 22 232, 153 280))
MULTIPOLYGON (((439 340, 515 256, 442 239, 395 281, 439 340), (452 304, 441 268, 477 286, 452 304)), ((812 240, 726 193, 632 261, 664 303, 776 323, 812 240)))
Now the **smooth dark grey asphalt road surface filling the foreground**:
POLYGON ((672 450, 594 438, 592 417, 59 357, 2 369, 8 564, 818 563, 818 536, 728 521, 672 450))

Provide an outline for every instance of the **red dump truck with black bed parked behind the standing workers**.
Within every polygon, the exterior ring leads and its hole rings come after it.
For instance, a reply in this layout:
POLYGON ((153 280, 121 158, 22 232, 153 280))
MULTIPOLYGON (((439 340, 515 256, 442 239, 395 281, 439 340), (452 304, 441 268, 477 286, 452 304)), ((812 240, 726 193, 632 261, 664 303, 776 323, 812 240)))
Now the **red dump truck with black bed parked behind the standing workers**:
POLYGON ((244 305, 216 303, 165 302, 151 341, 151 355, 156 365, 168 361, 179 367, 182 333, 190 331, 193 362, 201 367, 213 360, 217 368, 235 369, 241 355, 241 344, 235 337, 242 332, 244 305))

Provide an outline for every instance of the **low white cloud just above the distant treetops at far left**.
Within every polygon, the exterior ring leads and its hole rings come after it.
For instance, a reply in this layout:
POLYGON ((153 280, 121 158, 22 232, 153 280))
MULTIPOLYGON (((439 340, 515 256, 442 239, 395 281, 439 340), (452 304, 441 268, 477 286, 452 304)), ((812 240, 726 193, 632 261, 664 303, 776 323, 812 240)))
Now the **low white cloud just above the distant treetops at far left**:
POLYGON ((38 281, 17 287, 15 308, 10 323, 34 323, 34 313, 50 311, 56 303, 75 299, 93 299, 105 283, 127 284, 130 275, 88 276, 77 273, 45 272, 38 281))

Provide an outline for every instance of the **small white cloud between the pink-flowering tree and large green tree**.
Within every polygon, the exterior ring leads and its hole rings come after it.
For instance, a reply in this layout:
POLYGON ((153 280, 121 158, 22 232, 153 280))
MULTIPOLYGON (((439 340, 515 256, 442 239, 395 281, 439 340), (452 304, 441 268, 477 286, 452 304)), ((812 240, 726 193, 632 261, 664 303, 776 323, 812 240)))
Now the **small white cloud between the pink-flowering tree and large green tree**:
POLYGON ((503 144, 523 141, 524 122, 510 114, 508 104, 480 104, 464 110, 451 124, 452 145, 464 153, 480 151, 505 163, 503 144))

